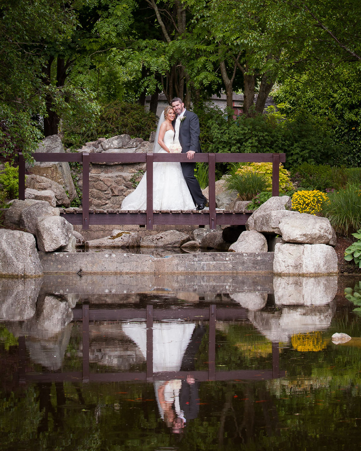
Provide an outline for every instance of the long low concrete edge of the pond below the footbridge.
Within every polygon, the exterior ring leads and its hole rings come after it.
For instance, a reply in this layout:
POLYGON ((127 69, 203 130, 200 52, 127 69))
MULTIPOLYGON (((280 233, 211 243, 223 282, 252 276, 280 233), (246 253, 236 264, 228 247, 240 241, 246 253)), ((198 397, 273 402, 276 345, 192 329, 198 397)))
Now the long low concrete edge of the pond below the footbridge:
POLYGON ((44 274, 273 273, 273 252, 189 253, 167 257, 120 251, 39 252, 44 274))

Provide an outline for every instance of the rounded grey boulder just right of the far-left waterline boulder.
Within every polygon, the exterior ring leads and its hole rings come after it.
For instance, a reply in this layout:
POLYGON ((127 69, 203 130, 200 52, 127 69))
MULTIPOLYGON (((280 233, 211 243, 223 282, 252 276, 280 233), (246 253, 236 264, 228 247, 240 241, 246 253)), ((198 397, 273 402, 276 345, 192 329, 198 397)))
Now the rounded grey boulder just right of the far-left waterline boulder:
POLYGON ((73 226, 60 216, 42 216, 36 221, 37 245, 43 252, 52 252, 69 243, 73 226))

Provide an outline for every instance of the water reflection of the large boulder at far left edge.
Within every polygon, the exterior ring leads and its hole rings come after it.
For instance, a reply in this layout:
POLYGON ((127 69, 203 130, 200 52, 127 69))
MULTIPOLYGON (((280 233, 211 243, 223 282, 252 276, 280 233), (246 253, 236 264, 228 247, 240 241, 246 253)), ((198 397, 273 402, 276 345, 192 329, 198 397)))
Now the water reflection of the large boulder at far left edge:
POLYGON ((42 277, 0 278, 0 320, 25 321, 35 314, 42 277))

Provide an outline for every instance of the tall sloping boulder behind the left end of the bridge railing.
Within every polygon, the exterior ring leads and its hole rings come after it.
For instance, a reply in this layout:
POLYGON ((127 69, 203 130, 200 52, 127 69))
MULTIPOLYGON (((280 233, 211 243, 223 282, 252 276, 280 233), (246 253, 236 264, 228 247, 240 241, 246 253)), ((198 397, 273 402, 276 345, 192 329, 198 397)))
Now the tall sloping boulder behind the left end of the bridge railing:
MULTIPOLYGON (((47 136, 39 144, 37 152, 65 153, 63 144, 58 135, 47 136)), ((28 172, 41 175, 60 184, 69 193, 69 199, 76 197, 74 182, 71 177, 70 166, 67 161, 36 161, 34 166, 26 165, 28 172)))

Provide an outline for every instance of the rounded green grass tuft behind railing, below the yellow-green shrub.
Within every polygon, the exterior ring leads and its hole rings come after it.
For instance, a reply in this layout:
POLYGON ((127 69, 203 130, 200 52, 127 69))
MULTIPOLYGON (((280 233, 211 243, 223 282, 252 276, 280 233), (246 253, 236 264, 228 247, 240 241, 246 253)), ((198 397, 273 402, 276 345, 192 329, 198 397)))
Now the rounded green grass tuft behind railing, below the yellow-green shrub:
POLYGON ((230 175, 224 176, 224 181, 225 188, 228 191, 236 191, 240 200, 252 200, 256 194, 267 189, 266 176, 255 171, 242 174, 231 171, 230 175))

